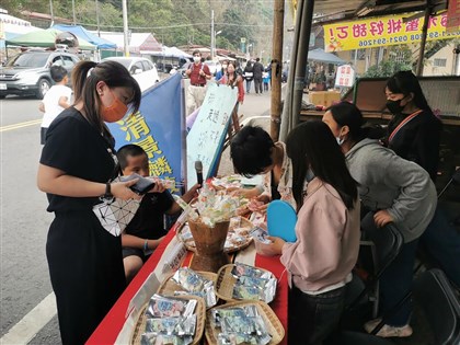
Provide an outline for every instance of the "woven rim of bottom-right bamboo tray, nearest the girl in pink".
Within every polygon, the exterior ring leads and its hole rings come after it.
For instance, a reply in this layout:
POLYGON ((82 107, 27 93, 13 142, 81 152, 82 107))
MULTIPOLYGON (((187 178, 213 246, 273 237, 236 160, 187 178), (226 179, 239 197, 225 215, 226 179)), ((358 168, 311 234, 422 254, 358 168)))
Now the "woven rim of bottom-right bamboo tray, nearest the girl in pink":
POLYGON ((267 326, 268 333, 272 335, 272 340, 268 345, 276 345, 279 344, 283 338, 285 337, 285 329, 283 327, 281 322, 279 321, 278 317, 275 312, 269 308, 269 306, 265 302, 261 301, 251 301, 251 302, 230 302, 223 306, 211 308, 206 313, 206 340, 209 345, 217 344, 217 337, 220 333, 218 329, 212 326, 212 317, 211 310, 212 309, 222 309, 222 308, 234 308, 234 307, 245 307, 245 306, 255 306, 258 310, 258 313, 264 319, 265 325, 267 326))

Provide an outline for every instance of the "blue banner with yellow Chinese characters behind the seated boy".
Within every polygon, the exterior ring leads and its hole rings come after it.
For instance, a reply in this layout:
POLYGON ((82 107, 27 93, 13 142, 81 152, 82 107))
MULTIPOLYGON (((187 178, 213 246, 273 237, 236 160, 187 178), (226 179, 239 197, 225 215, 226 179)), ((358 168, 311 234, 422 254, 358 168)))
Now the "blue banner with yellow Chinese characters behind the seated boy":
POLYGON ((149 158, 150 175, 174 182, 183 180, 185 157, 181 102, 181 76, 177 74, 143 92, 139 112, 107 124, 116 149, 127 143, 140 146, 149 158))

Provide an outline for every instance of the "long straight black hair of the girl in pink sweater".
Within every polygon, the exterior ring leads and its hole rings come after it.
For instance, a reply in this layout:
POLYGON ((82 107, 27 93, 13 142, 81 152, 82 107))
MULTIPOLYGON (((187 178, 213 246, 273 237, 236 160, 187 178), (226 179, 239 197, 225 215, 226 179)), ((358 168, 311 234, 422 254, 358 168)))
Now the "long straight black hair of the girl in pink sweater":
POLYGON ((326 124, 309 120, 298 125, 287 137, 286 150, 292 161, 292 194, 298 209, 303 204, 303 184, 309 168, 338 192, 347 209, 353 209, 358 198, 357 183, 326 124))

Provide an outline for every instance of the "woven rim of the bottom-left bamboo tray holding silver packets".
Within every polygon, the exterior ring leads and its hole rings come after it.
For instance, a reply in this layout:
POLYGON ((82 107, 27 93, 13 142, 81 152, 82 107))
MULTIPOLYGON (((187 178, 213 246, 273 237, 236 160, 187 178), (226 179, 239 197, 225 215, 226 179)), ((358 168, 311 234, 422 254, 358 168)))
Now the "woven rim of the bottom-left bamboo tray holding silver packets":
MULTIPOLYGON (((191 300, 191 299, 197 300, 196 308, 195 308, 195 314, 196 314, 195 336, 193 338, 193 342, 191 343, 192 345, 196 345, 202 340, 203 332, 205 331, 205 326, 206 326, 205 300, 196 296, 175 296, 174 298, 181 298, 185 300, 191 300)), ((140 345, 140 340, 141 340, 142 334, 145 333, 146 324, 147 324, 146 310, 148 306, 149 306, 149 302, 147 302, 140 311, 139 319, 136 322, 136 326, 131 335, 131 341, 129 343, 131 345, 140 345)))

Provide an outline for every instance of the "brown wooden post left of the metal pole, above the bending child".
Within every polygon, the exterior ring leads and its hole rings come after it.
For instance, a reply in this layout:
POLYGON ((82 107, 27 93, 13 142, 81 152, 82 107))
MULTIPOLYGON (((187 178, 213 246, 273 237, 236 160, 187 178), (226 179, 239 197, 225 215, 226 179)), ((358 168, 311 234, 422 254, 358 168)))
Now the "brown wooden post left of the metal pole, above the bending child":
POLYGON ((281 73, 283 73, 283 31, 285 20, 285 1, 275 0, 273 20, 273 50, 272 50, 272 104, 271 104, 271 137, 274 141, 279 138, 279 123, 281 119, 281 73))

